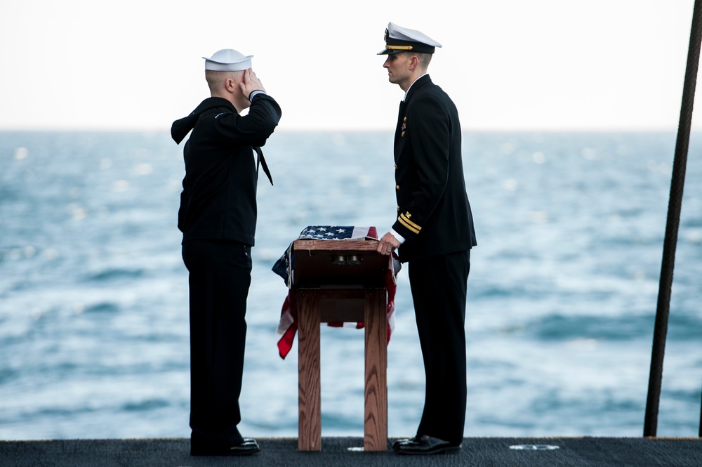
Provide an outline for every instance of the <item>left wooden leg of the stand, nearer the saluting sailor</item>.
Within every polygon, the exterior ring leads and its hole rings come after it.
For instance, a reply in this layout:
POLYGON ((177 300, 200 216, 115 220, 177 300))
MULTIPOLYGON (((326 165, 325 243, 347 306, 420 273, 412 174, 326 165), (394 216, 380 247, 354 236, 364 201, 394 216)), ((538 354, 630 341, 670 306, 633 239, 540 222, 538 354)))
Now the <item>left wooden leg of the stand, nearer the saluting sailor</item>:
POLYGON ((298 449, 322 450, 322 395, 319 388, 319 293, 300 290, 298 304, 298 449))

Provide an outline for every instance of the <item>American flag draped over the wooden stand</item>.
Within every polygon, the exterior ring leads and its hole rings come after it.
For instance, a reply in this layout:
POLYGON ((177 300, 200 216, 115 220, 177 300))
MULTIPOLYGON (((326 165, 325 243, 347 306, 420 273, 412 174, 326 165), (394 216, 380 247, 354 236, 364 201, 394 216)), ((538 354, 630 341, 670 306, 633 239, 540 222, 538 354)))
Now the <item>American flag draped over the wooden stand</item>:
MULTIPOLYGON (((345 239, 378 239, 378 232, 375 227, 355 227, 350 225, 310 225, 306 227, 298 239, 314 239, 314 240, 345 240, 345 239)), ((286 252, 273 265, 272 271, 282 277, 288 288, 292 287, 292 277, 295 258, 292 255, 293 244, 288 246, 286 252)), ((390 342, 390 334, 395 328, 395 291, 397 290, 397 282, 395 279, 396 273, 399 271, 399 261, 392 255, 389 256, 388 275, 385 277, 385 285, 388 288, 388 342, 390 342)), ((362 329, 364 324, 358 323, 327 323, 332 327, 355 327, 362 329)), ((283 302, 283 308, 280 313, 280 322, 278 324, 278 352, 281 358, 285 358, 290 349, 293 347, 295 334, 298 331, 297 312, 294 303, 293 294, 288 291, 283 302)))

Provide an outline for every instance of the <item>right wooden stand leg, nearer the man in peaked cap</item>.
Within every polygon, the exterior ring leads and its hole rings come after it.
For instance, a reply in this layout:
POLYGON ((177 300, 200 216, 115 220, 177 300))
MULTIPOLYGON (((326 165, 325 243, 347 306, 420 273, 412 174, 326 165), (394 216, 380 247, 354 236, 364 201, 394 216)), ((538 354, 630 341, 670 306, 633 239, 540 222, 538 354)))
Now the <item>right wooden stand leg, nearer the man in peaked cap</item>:
POLYGON ((388 315, 385 289, 366 290, 364 451, 388 449, 388 315))

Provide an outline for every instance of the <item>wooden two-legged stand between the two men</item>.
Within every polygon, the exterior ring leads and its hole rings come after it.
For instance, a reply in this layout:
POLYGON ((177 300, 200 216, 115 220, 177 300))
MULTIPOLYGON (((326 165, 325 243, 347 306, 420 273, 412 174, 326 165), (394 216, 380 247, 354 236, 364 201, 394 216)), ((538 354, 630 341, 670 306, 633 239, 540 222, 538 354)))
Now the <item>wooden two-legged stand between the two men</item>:
POLYGON ((298 314, 298 449, 322 450, 319 327, 364 322, 364 451, 388 449, 388 257, 376 240, 296 240, 292 288, 298 314))

